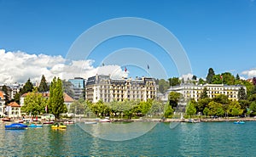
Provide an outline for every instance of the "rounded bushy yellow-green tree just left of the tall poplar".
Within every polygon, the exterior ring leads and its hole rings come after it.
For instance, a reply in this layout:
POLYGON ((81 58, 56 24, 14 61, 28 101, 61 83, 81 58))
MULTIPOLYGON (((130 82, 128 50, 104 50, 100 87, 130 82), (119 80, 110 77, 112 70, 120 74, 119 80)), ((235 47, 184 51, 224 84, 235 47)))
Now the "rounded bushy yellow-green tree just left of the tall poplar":
POLYGON ((38 93, 38 89, 35 89, 32 93, 26 94, 24 106, 21 107, 21 110, 25 111, 26 114, 36 116, 45 112, 46 105, 47 99, 41 93, 38 93))

